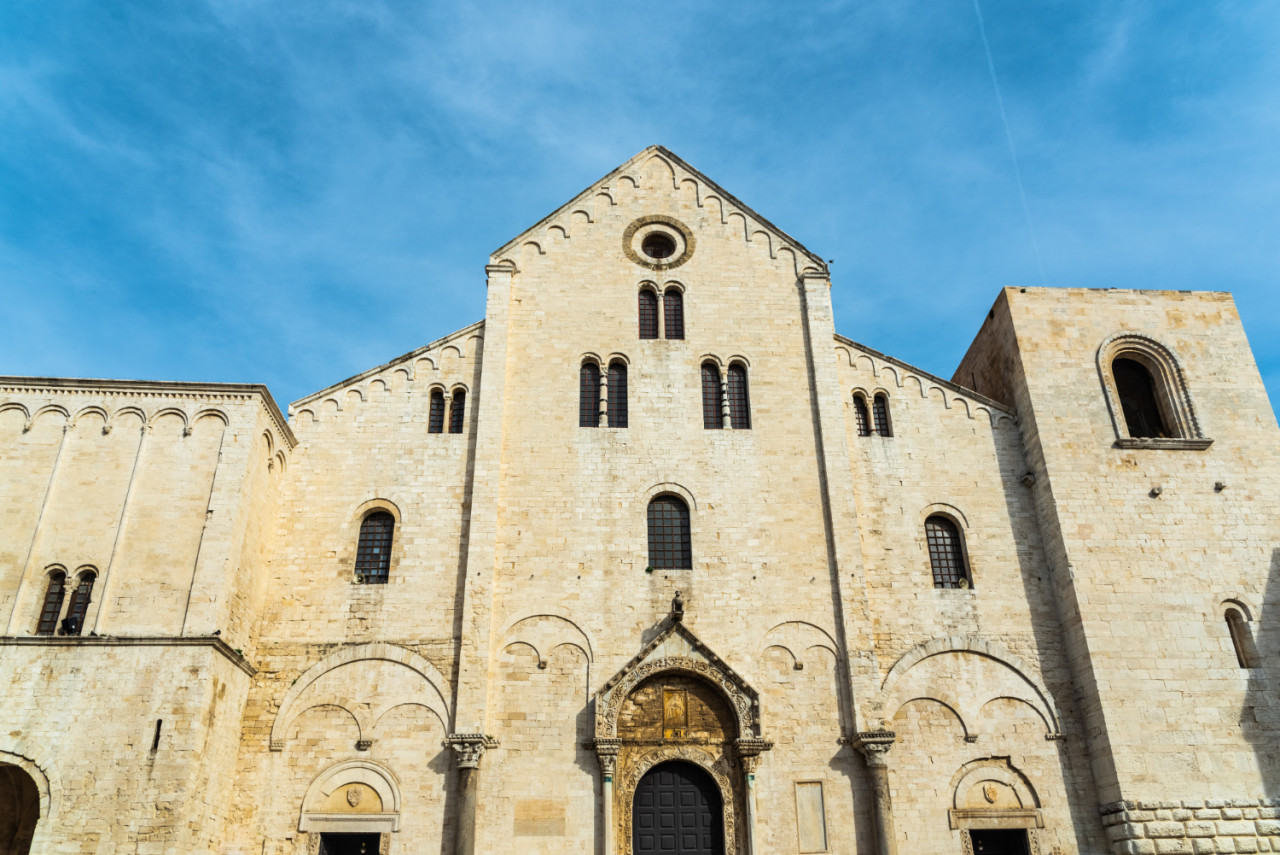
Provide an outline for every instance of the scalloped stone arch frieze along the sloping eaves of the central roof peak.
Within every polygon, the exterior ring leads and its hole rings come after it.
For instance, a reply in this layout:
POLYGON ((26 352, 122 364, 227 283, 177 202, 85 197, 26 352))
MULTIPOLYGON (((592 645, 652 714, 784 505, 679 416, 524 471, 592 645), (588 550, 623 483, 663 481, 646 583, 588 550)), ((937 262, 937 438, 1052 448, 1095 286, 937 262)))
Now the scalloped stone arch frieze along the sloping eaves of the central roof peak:
POLYGON ((804 270, 827 273, 827 264, 820 256, 805 248, 805 246, 799 241, 769 223, 751 207, 739 201, 732 193, 699 170, 690 166, 680 156, 663 146, 649 146, 640 154, 635 155, 608 175, 600 178, 568 202, 556 209, 552 214, 539 220, 531 228, 525 229, 522 233, 502 244, 493 252, 492 256, 489 256, 489 261, 492 264, 507 262, 515 265, 521 247, 529 243, 535 244, 539 248, 539 253, 541 253, 541 247, 547 242, 549 232, 558 230, 562 236, 571 233, 571 221, 575 214, 585 216, 588 221, 594 221, 591 211, 594 209, 595 197, 603 196, 608 200, 608 204, 616 204, 613 202, 611 188, 616 187, 620 182, 626 180, 631 182, 632 186, 641 184, 644 182, 643 172, 655 159, 666 164, 667 169, 671 172, 671 186, 673 192, 684 184, 691 184, 691 189, 699 207, 705 207, 712 202, 712 200, 718 202, 722 224, 727 225, 735 218, 740 219, 742 238, 745 241, 750 242, 756 239, 758 236, 763 236, 768 243, 769 256, 774 259, 780 252, 788 252, 795 259, 797 275, 804 270))

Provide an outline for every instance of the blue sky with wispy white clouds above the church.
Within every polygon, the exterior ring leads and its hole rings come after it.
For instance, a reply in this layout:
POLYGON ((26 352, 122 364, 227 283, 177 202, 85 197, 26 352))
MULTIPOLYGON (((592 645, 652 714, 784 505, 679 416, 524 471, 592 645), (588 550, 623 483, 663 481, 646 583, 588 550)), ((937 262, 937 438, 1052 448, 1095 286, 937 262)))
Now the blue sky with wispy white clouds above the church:
POLYGON ((973 0, 8 0, 0 372, 285 403, 479 320, 490 251, 662 143, 925 370, 1004 285, 1231 291, 1280 402, 1280 4, 982 12, 1036 244, 973 0))

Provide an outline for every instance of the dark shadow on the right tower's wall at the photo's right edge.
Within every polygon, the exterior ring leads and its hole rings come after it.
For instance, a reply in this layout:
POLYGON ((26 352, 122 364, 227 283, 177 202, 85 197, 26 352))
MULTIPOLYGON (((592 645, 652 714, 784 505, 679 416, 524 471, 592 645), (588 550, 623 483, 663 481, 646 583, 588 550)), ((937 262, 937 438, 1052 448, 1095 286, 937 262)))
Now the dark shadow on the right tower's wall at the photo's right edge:
MULTIPOLYGON (((1280 548, 1271 550, 1271 568, 1267 572, 1266 594, 1258 604, 1258 614, 1249 621, 1256 655, 1249 668, 1249 686, 1240 710, 1240 732, 1257 758, 1258 774, 1268 799, 1280 797, 1280 699, 1276 698, 1277 657, 1280 657, 1280 628, 1275 626, 1270 605, 1280 598, 1280 548)), ((1251 631, 1249 628, 1245 630, 1251 631)))

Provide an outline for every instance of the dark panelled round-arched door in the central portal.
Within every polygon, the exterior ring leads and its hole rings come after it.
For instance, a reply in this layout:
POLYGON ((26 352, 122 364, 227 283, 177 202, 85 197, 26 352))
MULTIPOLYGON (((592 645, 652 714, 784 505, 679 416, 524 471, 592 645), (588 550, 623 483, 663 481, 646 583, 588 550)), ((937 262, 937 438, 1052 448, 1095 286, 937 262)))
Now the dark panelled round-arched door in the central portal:
POLYGON ((636 785, 632 855, 723 855, 723 803, 704 769, 659 763, 636 785))

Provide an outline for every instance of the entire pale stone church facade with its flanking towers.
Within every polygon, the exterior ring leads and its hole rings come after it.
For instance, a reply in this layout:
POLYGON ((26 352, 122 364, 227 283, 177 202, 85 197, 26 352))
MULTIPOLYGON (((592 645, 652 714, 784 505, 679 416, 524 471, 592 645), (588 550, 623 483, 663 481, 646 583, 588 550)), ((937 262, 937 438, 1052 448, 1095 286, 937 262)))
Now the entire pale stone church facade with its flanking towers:
POLYGON ((486 273, 288 419, 0 378, 0 852, 1280 851, 1229 294, 1006 288, 945 380, 660 147, 486 273))

